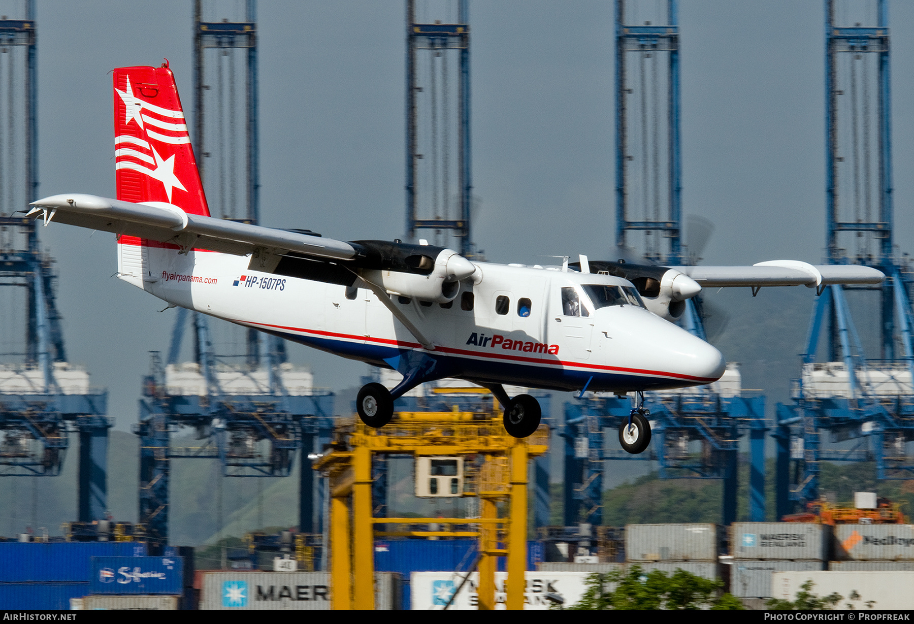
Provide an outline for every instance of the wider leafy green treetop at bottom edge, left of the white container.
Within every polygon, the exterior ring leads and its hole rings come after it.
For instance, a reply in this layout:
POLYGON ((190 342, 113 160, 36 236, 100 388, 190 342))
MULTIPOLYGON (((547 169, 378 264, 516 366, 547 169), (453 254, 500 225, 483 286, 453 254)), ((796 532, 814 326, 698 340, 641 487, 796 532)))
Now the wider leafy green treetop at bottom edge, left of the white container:
POLYGON ((628 572, 588 576, 587 591, 572 609, 739 609, 738 598, 718 596, 723 581, 711 581, 683 569, 667 576, 661 570, 645 573, 640 566, 628 572))

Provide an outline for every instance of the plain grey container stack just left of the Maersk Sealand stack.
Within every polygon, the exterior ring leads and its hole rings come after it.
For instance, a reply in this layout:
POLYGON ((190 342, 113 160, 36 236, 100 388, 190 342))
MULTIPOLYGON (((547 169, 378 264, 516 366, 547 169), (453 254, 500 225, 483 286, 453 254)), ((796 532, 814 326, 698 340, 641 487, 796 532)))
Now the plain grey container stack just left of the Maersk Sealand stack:
POLYGON ((677 568, 711 580, 720 576, 715 524, 628 524, 625 561, 645 572, 673 573, 677 568))

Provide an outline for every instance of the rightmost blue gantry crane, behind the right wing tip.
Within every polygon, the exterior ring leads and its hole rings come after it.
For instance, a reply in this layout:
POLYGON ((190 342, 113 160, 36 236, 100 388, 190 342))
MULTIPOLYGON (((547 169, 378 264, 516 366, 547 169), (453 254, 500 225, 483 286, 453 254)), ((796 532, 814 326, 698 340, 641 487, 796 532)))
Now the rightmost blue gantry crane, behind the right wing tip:
POLYGON ((893 233, 887 0, 824 0, 824 40, 826 261, 875 267, 887 280, 830 286, 816 301, 793 403, 777 411, 779 517, 820 497, 823 461, 870 460, 878 479, 914 478, 914 276, 893 233), (873 336, 852 314, 866 304, 873 336))

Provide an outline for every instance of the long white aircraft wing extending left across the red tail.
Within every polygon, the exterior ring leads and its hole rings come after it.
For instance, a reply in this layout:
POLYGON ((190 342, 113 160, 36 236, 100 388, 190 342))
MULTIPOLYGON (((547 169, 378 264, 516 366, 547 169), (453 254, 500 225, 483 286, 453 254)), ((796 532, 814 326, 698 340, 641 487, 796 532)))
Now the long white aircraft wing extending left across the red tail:
POLYGON ((342 240, 297 231, 260 227, 186 213, 165 202, 133 204, 106 197, 69 194, 32 202, 30 216, 44 215, 73 226, 90 227, 118 236, 149 238, 185 249, 210 249, 247 256, 258 249, 282 256, 292 252, 323 259, 353 259, 355 247, 342 240))

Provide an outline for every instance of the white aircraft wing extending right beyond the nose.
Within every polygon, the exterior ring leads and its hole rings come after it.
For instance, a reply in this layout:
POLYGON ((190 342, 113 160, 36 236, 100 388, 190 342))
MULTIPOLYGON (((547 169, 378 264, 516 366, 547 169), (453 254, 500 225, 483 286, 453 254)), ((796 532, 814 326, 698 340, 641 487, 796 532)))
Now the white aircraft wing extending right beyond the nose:
POLYGON ((886 279, 882 271, 854 264, 813 266, 797 260, 771 260, 750 267, 670 267, 704 287, 724 286, 806 286, 830 284, 878 284, 886 279))

